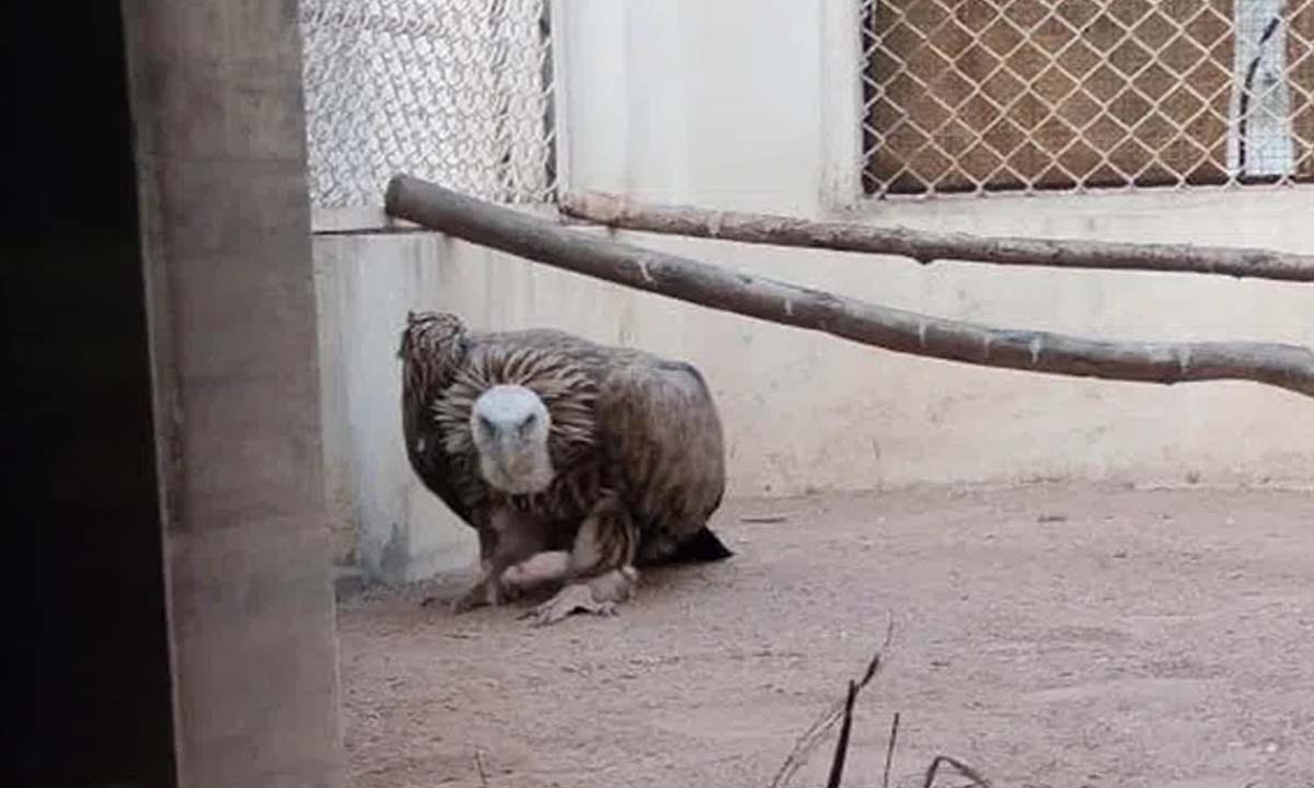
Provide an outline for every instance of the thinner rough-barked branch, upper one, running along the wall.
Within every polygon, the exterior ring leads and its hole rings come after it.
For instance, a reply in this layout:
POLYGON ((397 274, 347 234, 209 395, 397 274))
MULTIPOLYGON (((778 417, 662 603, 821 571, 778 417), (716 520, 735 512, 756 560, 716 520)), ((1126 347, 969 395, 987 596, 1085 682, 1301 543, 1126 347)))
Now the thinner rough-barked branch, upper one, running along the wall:
POLYGON ((644 205, 597 192, 564 194, 561 213, 623 230, 896 255, 912 257, 922 264, 959 260, 997 265, 1167 271, 1214 273, 1238 278, 1314 281, 1314 255, 1290 255, 1272 250, 922 232, 905 227, 812 222, 770 214, 644 205))

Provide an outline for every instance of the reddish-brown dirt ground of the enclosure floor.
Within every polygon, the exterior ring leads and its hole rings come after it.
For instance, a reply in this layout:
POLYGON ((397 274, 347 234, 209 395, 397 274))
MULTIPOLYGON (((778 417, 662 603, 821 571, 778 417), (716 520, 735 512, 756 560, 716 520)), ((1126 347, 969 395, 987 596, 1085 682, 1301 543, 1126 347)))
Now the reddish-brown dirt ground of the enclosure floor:
POLYGON ((614 619, 418 607, 468 575, 343 604, 355 785, 766 787, 888 616, 845 785, 880 784, 894 712, 900 787, 936 754, 1000 787, 1314 785, 1309 494, 825 495, 714 528, 735 558, 645 574, 614 619))

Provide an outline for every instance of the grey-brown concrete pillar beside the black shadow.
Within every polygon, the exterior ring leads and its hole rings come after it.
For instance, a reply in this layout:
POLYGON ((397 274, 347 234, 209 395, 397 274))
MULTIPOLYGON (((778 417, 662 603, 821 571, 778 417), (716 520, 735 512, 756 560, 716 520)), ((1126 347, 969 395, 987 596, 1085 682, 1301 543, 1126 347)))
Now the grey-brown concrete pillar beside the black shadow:
POLYGON ((297 3, 122 7, 179 785, 340 785, 297 3))

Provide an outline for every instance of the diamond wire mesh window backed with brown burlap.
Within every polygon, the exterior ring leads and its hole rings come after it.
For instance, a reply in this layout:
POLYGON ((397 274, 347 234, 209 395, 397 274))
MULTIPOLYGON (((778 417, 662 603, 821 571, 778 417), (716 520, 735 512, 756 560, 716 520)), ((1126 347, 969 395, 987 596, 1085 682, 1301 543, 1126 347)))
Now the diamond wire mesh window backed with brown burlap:
POLYGON ((1314 177, 1314 0, 861 0, 869 194, 1314 177))

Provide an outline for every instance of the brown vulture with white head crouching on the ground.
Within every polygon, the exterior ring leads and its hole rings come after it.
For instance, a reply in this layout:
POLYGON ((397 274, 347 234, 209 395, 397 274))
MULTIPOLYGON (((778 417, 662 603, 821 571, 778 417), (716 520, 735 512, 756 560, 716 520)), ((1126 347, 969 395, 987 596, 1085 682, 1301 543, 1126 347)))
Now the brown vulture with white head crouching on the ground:
POLYGON ((691 364, 431 311, 407 313, 398 357, 410 466, 478 535, 480 579, 455 612, 551 580, 527 613, 539 624, 610 615, 636 567, 732 556, 707 525, 724 436, 691 364))

